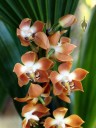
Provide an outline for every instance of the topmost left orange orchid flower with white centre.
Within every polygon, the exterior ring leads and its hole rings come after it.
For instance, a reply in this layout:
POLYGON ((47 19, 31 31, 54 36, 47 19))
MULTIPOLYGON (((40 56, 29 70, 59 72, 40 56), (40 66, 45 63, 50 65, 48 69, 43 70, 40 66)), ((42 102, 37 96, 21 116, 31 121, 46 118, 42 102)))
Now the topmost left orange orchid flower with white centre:
POLYGON ((17 28, 17 36, 19 37, 23 46, 29 46, 30 41, 34 41, 36 45, 43 49, 49 48, 49 41, 46 34, 43 31, 44 23, 41 21, 35 21, 31 25, 31 19, 25 18, 21 21, 19 29, 17 28))

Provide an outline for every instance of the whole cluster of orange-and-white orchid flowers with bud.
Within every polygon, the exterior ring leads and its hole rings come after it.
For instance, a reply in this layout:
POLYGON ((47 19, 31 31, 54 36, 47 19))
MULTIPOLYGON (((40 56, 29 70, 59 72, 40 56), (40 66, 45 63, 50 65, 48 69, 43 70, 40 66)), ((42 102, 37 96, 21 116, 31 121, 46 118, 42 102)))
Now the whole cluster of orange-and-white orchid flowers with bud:
POLYGON ((21 45, 30 46, 31 50, 21 57, 21 63, 16 63, 13 71, 18 77, 20 87, 28 84, 25 97, 15 100, 25 102, 22 108, 23 128, 35 127, 41 124, 45 128, 80 128, 84 121, 73 114, 64 118, 67 108, 59 107, 50 113, 48 105, 52 96, 57 96, 62 102, 70 103, 70 94, 83 91, 81 80, 87 71, 77 68, 70 72, 72 56, 75 49, 71 39, 63 36, 76 22, 74 15, 66 15, 59 19, 52 27, 46 27, 43 22, 25 18, 17 29, 17 36, 21 45), (58 63, 58 64, 57 64, 58 63), (57 67, 58 66, 58 71, 57 67), (52 94, 52 95, 51 95, 52 94))

